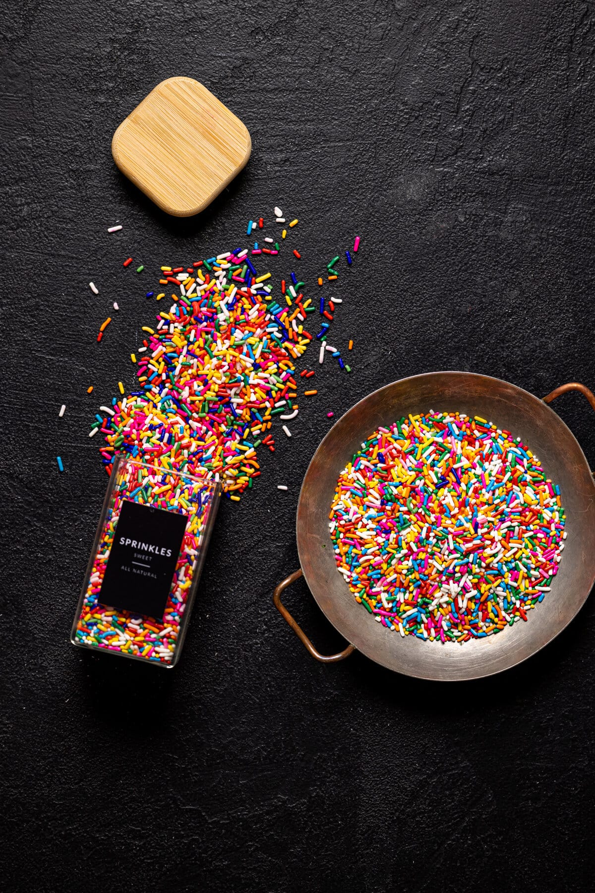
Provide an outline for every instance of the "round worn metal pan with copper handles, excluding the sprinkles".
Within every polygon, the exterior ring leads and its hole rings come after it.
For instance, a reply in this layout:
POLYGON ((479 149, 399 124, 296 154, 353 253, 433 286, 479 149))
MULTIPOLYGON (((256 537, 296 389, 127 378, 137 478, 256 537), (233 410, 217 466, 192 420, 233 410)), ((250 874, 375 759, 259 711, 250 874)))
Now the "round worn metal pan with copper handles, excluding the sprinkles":
POLYGON ((573 619, 595 581, 595 484, 589 464, 571 430, 547 404, 579 390, 595 409, 584 385, 562 385, 543 400, 507 381, 470 372, 431 372, 394 381, 365 397, 328 432, 302 483, 296 536, 301 570, 275 590, 274 602, 310 654, 325 663, 342 660, 357 648, 390 670, 428 680, 467 680, 507 670, 535 654, 573 619), (551 591, 528 613, 499 633, 463 644, 401 638, 359 605, 336 570, 328 512, 337 478, 362 441, 378 428, 409 413, 453 412, 479 415, 513 432, 531 448, 547 476, 559 485, 566 510, 566 548, 551 591), (321 655, 281 602, 281 594, 303 576, 318 606, 350 643, 337 655, 321 655))

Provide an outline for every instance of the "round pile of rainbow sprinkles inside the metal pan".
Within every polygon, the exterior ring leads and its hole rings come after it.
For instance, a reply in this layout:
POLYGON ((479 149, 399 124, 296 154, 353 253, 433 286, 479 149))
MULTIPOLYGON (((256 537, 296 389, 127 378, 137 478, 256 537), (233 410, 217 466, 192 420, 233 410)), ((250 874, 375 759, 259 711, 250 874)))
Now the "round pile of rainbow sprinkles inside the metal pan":
POLYGON ((510 431, 464 413, 378 428, 341 472, 337 569, 401 636, 466 642, 527 619, 566 539, 559 487, 510 431))

